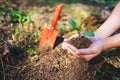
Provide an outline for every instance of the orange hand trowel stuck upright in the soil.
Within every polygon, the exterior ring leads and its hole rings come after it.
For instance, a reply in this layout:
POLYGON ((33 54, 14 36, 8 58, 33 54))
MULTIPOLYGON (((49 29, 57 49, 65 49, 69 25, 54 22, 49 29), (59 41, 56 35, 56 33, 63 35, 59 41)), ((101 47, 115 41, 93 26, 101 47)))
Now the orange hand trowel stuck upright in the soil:
POLYGON ((54 47, 56 38, 58 36, 58 31, 55 30, 57 21, 59 19, 60 13, 62 10, 62 4, 57 4, 55 8, 54 17, 52 20, 52 25, 50 28, 45 28, 42 32, 41 39, 39 42, 39 47, 49 46, 54 47))

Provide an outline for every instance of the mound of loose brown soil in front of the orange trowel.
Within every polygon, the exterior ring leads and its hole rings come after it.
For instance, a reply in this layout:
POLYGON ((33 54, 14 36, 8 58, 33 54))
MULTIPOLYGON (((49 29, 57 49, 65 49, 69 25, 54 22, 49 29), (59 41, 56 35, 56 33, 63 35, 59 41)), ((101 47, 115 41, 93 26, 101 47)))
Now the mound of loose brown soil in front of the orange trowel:
POLYGON ((87 62, 60 49, 45 52, 21 77, 23 80, 84 80, 86 70, 87 62))

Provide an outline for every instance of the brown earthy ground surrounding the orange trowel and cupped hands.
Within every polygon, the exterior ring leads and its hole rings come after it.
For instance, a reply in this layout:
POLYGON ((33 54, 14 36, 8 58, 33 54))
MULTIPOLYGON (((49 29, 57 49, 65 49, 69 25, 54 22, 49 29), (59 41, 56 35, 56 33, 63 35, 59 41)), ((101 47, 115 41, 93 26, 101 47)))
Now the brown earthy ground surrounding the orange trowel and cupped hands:
MULTIPOLYGON (((22 6, 22 11, 31 13, 34 26, 28 29, 26 22, 21 28, 18 39, 10 31, 11 26, 0 25, 0 80, 119 80, 120 79, 120 49, 106 50, 89 62, 68 53, 61 48, 64 38, 76 33, 70 29, 67 21, 74 19, 83 22, 82 31, 96 30, 107 18, 100 7, 85 4, 64 4, 57 30, 60 31, 59 44, 54 49, 38 48, 38 41, 30 42, 29 37, 49 27, 54 13, 54 6, 22 6), (72 12, 71 12, 72 11, 72 12), (94 13, 93 13, 94 12, 94 13), (101 14, 99 14, 101 13, 101 14), (105 17, 101 17, 105 16, 105 17), (34 29, 33 29, 34 28, 34 29), (25 32, 25 33, 24 33, 25 32), (27 33, 27 34, 26 34, 27 33), (9 38, 9 39, 8 39, 9 38), (35 46, 35 51, 26 47, 35 46), (26 52, 25 50, 28 50, 26 52), (29 52, 30 50, 30 52, 29 52), (30 53, 30 54, 27 54, 30 53)), ((109 16, 109 15, 108 15, 109 16)), ((16 25, 14 26, 16 28, 16 25)), ((32 40, 35 40, 34 37, 32 40)), ((73 44, 78 43, 74 41, 73 44)), ((86 42, 84 42, 86 43, 86 42)))

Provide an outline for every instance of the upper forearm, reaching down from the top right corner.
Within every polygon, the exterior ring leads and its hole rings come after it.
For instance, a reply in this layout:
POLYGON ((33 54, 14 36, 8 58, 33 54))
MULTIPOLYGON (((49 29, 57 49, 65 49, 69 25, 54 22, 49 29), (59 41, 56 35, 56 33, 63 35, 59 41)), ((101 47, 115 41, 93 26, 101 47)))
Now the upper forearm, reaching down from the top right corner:
POLYGON ((95 31, 99 38, 106 38, 120 27, 120 2, 116 5, 109 18, 95 31))

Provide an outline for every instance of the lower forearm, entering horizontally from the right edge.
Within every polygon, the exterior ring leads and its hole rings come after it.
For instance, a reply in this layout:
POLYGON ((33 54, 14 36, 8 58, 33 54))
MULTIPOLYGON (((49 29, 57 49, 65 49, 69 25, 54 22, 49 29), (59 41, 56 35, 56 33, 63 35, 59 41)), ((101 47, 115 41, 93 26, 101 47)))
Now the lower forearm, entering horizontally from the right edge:
POLYGON ((120 46, 120 34, 103 39, 103 50, 120 46))

